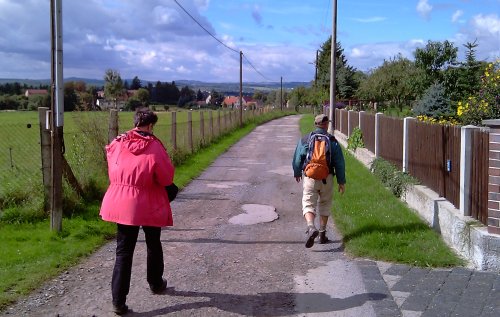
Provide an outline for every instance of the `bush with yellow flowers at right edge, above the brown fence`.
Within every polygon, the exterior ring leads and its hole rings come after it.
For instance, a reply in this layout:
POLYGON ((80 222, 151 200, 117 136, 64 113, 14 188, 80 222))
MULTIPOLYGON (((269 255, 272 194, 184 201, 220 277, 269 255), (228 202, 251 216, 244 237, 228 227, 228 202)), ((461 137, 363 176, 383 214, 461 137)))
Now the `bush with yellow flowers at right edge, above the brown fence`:
POLYGON ((486 65, 480 90, 457 103, 457 118, 463 125, 500 118, 500 59, 486 65))

